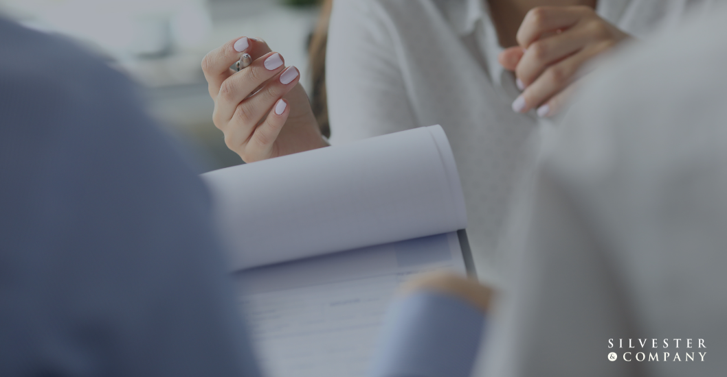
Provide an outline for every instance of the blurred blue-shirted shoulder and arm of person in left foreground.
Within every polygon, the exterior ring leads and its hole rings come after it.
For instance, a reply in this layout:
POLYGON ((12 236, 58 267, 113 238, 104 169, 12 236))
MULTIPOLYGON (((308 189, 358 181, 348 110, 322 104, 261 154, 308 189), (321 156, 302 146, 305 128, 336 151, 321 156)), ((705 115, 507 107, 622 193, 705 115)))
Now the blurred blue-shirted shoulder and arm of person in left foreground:
POLYGON ((12 287, 0 370, 259 376, 206 188, 129 81, 46 36, 13 54, 27 68, 0 74, 0 265, 12 287), (28 50, 54 65, 36 67, 28 50))

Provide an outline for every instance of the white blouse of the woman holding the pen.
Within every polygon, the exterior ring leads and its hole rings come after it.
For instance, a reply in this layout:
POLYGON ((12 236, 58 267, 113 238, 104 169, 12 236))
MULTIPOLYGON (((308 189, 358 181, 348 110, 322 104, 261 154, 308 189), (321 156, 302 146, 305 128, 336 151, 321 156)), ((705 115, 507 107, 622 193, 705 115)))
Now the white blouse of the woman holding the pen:
MULTIPOLYGON (((675 25, 694 0, 601 0, 598 14, 637 38, 675 25)), ((497 283, 496 253, 529 143, 544 120, 517 114, 511 72, 485 0, 335 0, 326 85, 332 144, 440 124, 465 191, 478 276, 497 283)), ((375 153, 375 151, 372 151, 375 153)))

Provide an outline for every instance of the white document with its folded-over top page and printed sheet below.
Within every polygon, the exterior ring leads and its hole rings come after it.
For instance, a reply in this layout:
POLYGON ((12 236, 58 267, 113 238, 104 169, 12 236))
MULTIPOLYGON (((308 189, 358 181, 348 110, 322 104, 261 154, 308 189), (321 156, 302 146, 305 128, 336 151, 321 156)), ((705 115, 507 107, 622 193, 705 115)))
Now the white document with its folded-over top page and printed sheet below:
POLYGON ((465 273, 464 197, 438 125, 202 177, 268 376, 364 376, 398 285, 465 273))

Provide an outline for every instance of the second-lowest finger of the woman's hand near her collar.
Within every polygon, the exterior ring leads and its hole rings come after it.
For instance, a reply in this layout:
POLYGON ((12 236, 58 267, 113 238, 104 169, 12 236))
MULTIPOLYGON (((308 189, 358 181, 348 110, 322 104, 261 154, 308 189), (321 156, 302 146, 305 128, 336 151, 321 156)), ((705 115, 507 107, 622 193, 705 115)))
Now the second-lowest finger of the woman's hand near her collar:
POLYGON ((592 46, 582 49, 571 57, 564 59, 548 67, 531 86, 528 86, 523 94, 513 102, 515 112, 527 112, 534 107, 539 107, 559 91, 569 86, 577 79, 577 72, 584 62, 595 57, 608 48, 606 43, 603 46, 592 46))

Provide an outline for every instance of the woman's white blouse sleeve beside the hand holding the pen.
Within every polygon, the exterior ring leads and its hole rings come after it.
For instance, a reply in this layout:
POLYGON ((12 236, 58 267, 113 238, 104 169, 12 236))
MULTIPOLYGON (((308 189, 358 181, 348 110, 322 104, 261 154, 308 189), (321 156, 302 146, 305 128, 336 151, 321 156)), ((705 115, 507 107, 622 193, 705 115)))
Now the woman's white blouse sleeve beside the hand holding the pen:
POLYGON ((419 125, 404 85, 395 28, 370 0, 334 1, 326 54, 333 144, 419 125))

